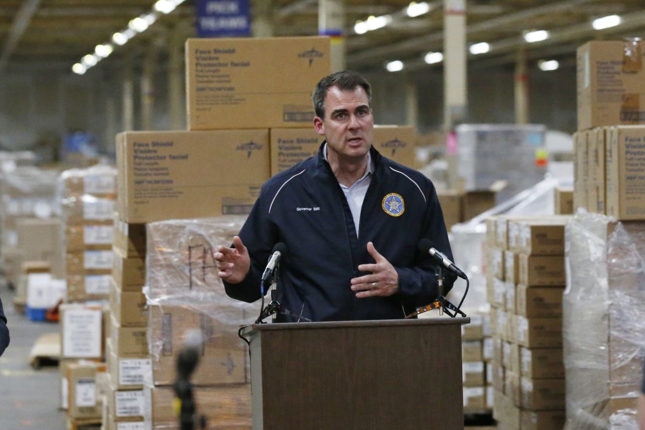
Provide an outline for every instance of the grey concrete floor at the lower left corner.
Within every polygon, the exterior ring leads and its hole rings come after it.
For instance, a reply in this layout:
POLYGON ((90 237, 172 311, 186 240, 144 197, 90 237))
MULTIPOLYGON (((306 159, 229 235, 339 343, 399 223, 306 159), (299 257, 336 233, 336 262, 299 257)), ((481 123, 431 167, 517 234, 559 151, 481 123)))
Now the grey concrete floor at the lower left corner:
POLYGON ((0 283, 11 343, 0 357, 0 430, 64 430, 65 414, 60 403, 58 367, 35 370, 29 352, 35 340, 56 333, 59 325, 31 322, 14 310, 14 292, 0 283))

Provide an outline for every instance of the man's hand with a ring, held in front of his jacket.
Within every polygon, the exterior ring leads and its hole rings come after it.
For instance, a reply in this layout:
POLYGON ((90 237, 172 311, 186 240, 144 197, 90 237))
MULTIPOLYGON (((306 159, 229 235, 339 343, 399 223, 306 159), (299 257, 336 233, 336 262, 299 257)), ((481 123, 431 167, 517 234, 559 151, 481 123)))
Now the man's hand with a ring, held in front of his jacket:
POLYGON ((357 298, 372 296, 392 296, 399 291, 399 274, 384 256, 376 251, 372 242, 367 243, 367 252, 374 258, 374 264, 361 264, 359 271, 373 272, 352 279, 352 291, 357 298))

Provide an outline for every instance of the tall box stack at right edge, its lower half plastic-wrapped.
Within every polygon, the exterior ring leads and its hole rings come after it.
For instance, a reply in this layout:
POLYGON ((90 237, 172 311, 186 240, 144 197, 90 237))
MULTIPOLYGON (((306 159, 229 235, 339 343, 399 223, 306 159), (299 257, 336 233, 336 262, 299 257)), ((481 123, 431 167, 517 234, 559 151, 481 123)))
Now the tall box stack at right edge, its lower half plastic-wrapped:
POLYGON ((586 212, 568 225, 564 360, 567 418, 580 428, 638 426, 645 295, 634 262, 645 254, 644 54, 640 39, 592 41, 577 52, 573 198, 586 212))

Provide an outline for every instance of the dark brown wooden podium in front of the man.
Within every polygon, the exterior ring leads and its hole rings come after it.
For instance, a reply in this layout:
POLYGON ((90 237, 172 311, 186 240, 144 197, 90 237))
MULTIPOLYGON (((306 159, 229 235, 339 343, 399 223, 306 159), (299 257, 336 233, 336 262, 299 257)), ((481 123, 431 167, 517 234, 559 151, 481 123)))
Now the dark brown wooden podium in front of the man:
POLYGON ((250 325, 253 429, 462 430, 468 322, 250 325))

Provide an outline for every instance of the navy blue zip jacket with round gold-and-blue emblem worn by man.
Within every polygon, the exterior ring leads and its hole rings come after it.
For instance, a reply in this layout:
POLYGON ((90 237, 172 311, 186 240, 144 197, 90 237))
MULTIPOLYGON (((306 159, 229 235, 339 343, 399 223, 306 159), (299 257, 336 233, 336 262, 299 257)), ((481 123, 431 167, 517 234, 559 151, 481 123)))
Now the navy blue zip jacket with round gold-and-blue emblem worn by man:
MULTIPOLYGON (((224 282, 226 294, 244 302, 261 297, 260 278, 275 243, 287 246, 281 262, 279 302, 312 321, 385 320, 403 318, 415 307, 437 298, 436 265, 417 247, 421 238, 452 259, 437 193, 430 179, 370 149, 373 172, 362 204, 359 235, 338 180, 323 157, 323 145, 308 158, 264 183, 240 231, 251 256, 243 282, 224 282), (386 197, 402 199, 402 213, 386 210, 386 197), (374 263, 375 249, 399 274, 399 292, 389 297, 356 298, 350 280, 363 274, 357 267, 374 263)), ((399 212, 401 209, 399 209, 399 212)), ((455 277, 446 276, 446 294, 455 277)), ((295 321, 284 314, 279 322, 295 321)))

